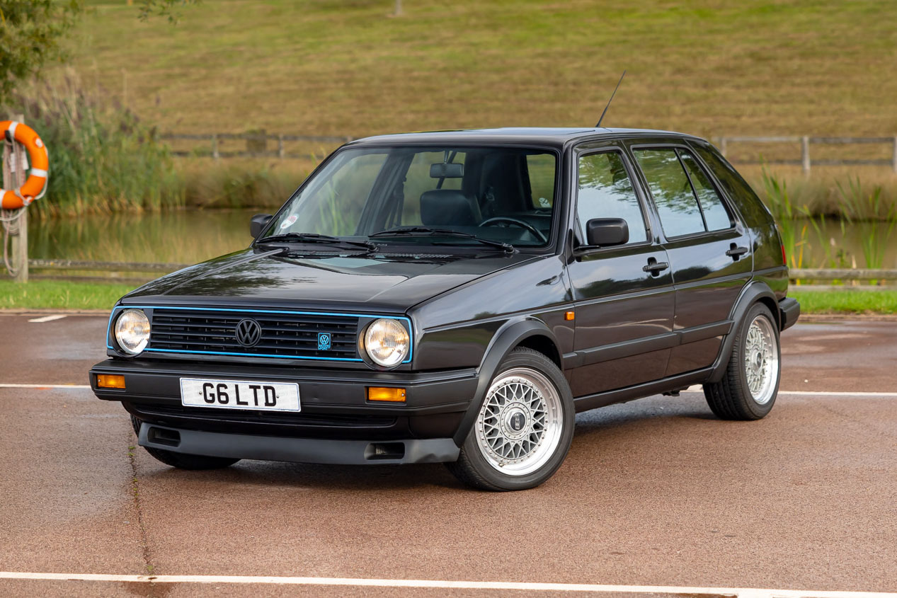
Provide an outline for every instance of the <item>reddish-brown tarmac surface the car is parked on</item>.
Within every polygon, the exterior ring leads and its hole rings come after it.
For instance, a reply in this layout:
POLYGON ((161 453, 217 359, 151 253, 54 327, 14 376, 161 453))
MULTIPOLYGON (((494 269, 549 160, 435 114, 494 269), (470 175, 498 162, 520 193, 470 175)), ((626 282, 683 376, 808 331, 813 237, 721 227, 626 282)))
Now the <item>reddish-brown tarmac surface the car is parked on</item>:
POLYGON ((552 480, 486 493, 440 465, 171 469, 52 387, 87 384, 106 316, 39 316, 0 316, 3 596, 897 592, 897 322, 788 330, 764 420, 697 392, 582 413, 552 480))

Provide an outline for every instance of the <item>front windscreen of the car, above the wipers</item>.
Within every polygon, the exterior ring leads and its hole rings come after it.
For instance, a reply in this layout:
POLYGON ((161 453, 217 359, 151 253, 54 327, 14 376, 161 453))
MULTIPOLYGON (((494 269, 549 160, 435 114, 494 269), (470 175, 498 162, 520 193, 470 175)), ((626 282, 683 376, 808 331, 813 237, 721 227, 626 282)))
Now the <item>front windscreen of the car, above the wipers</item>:
POLYGON ((451 230, 514 247, 544 247, 551 237, 556 170, 555 154, 537 149, 347 149, 290 199, 266 237, 312 233, 374 236, 378 244, 475 245, 471 238, 437 234, 451 230), (390 234, 403 230, 405 235, 390 234))

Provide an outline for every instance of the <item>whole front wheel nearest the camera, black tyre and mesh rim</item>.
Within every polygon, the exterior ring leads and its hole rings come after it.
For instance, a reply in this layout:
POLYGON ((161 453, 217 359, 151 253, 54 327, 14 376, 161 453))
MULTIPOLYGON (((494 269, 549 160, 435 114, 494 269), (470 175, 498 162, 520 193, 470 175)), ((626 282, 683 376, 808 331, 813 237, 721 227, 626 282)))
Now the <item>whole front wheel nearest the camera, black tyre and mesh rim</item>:
POLYGON ((570 386, 552 360, 532 349, 501 363, 457 462, 448 470, 481 490, 526 490, 563 463, 576 413, 570 386))

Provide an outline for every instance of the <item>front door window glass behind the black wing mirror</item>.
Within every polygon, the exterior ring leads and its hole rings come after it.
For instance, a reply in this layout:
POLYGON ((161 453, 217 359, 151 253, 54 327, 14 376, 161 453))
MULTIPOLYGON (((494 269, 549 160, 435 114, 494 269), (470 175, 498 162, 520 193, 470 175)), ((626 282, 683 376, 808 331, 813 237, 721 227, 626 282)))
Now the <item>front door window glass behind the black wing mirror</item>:
POLYGON ((586 238, 586 222, 593 218, 623 218, 629 225, 629 243, 648 240, 645 216, 619 152, 579 157, 576 212, 581 238, 586 238))

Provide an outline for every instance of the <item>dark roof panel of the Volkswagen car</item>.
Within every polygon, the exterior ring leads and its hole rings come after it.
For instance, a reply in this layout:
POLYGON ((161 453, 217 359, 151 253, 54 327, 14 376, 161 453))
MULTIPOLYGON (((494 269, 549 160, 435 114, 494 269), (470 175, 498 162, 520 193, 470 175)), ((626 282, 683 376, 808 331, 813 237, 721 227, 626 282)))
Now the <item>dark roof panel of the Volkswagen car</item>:
POLYGON ((502 143, 512 145, 563 146, 581 139, 601 137, 678 137, 700 139, 690 134, 657 129, 606 127, 507 127, 495 129, 464 129, 457 131, 429 131, 425 133, 386 134, 355 140, 350 145, 403 145, 426 143, 502 143))

